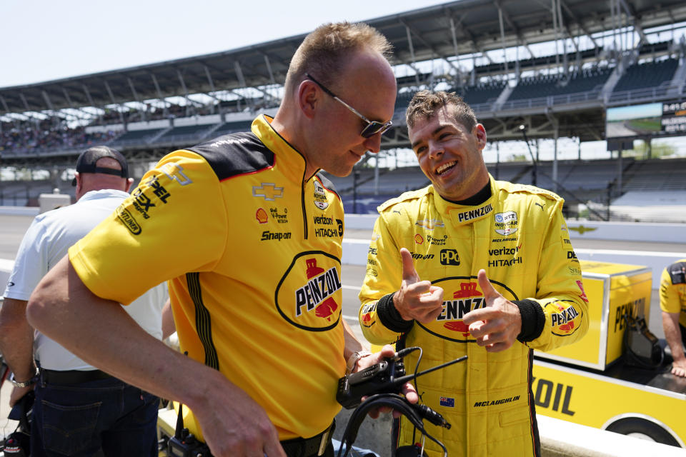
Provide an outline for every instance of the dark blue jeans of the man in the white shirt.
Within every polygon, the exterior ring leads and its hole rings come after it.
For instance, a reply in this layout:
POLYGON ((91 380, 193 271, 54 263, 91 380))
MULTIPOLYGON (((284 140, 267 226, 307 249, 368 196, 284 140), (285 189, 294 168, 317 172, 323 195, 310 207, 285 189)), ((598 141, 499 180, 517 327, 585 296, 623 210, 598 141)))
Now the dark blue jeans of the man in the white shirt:
POLYGON ((157 455, 159 399, 107 378, 36 384, 31 457, 157 455))

